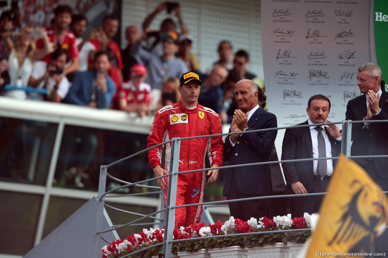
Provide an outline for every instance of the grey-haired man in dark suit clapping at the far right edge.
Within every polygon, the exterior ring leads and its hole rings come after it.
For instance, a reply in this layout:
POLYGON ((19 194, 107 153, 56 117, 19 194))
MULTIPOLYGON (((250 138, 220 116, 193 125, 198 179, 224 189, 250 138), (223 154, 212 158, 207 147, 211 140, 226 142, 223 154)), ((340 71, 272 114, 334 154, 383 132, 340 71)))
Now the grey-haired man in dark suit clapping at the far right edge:
MULTIPOLYGON (((381 91, 381 69, 378 65, 362 65, 357 72, 357 85, 363 95, 349 100, 346 120, 364 120, 352 124, 352 156, 387 155, 388 123, 367 123, 368 120, 388 120, 388 93, 381 91)), ((388 158, 356 158, 354 160, 388 191, 388 158)))

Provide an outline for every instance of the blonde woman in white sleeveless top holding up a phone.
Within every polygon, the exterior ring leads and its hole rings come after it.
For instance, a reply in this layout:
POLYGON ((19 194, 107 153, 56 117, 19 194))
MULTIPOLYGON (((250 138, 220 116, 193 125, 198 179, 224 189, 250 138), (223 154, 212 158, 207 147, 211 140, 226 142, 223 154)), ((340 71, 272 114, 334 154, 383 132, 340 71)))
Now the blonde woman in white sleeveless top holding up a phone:
MULTIPOLYGON (((44 29, 23 28, 17 33, 14 44, 9 37, 5 38, 4 42, 10 51, 8 69, 10 84, 25 87, 28 85, 34 62, 50 52, 49 38, 44 29), (35 49, 36 38, 43 38, 44 48, 35 49)), ((5 91, 4 95, 17 99, 27 98, 26 92, 21 90, 5 91)))

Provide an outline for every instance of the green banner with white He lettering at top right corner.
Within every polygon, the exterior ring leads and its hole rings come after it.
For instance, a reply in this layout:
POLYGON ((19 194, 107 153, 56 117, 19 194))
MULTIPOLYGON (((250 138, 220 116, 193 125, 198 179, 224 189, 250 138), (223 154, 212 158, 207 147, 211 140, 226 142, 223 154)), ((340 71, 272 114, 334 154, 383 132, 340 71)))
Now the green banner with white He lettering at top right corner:
POLYGON ((388 4, 386 0, 374 0, 374 44, 376 47, 377 64, 383 71, 388 92, 388 4))

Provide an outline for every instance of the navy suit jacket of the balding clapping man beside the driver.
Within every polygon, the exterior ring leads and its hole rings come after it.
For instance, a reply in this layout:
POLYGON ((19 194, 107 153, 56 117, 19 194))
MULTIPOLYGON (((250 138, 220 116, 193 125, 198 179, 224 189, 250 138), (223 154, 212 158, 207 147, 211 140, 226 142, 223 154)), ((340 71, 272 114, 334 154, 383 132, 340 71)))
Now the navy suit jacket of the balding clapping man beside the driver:
MULTIPOLYGON (((258 108, 248 120, 246 131, 274 127, 277 127, 276 116, 258 108)), ((276 134, 277 130, 241 134, 234 147, 228 136, 223 145, 223 159, 229 160, 229 165, 269 162, 276 134)), ((270 165, 227 169, 223 196, 228 195, 231 184, 237 184, 243 194, 270 194, 270 165)))

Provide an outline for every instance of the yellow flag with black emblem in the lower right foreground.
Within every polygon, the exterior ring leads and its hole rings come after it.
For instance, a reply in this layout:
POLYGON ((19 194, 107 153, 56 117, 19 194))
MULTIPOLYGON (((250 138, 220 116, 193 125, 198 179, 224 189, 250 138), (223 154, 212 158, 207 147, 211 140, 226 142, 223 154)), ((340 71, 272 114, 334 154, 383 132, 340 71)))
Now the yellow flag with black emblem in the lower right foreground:
POLYGON ((357 163, 341 156, 306 257, 316 257, 317 253, 368 253, 388 222, 388 198, 382 191, 357 163))

